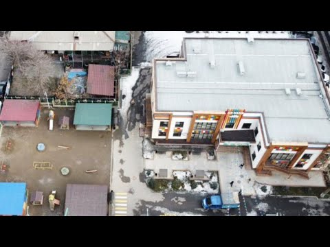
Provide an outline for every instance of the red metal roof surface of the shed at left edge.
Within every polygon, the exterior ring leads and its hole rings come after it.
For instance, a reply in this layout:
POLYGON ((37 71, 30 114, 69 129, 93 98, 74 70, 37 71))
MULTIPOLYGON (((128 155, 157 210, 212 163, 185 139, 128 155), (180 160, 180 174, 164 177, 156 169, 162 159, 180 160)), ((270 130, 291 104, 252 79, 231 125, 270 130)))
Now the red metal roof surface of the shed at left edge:
POLYGON ((39 100, 5 99, 0 121, 35 121, 39 100))

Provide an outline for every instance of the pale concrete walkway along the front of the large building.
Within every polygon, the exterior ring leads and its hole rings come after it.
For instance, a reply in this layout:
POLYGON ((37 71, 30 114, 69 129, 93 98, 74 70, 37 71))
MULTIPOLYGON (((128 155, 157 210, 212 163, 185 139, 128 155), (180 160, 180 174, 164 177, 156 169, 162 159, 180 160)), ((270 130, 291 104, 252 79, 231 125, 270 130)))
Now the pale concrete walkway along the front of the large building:
POLYGON ((188 161, 174 161, 171 152, 166 154, 154 154, 153 159, 145 160, 146 169, 153 169, 159 173, 159 169, 168 169, 168 178, 175 170, 189 170, 195 174, 197 169, 204 171, 217 171, 221 193, 232 194, 242 190, 243 196, 256 196, 258 191, 254 189, 255 182, 264 185, 295 186, 295 187, 325 187, 322 172, 313 171, 309 179, 300 176, 291 176, 281 172, 273 172, 273 176, 256 176, 254 170, 240 168, 243 163, 243 155, 237 153, 217 153, 216 161, 208 161, 206 152, 201 155, 190 154, 188 161), (232 187, 230 183, 234 182, 232 187))

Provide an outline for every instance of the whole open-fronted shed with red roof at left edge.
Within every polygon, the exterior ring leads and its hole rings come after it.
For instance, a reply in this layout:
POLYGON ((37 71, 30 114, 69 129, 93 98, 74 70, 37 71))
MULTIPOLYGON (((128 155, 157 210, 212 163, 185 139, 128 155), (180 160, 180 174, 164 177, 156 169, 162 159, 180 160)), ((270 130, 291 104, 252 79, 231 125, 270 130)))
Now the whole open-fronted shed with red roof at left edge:
POLYGON ((0 114, 3 126, 38 126, 41 104, 39 100, 5 99, 0 114))

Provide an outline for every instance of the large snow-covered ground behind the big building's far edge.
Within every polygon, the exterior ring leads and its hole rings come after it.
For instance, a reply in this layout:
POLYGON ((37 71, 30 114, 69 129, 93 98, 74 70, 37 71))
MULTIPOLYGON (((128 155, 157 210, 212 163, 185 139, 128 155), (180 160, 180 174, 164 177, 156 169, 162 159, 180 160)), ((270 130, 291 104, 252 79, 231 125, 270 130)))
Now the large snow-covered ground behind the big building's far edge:
POLYGON ((146 31, 144 33, 146 55, 144 60, 151 62, 153 58, 164 58, 170 54, 180 51, 181 43, 184 37, 197 38, 289 38, 291 34, 288 31, 199 31, 186 33, 185 31, 146 31), (246 33, 248 32, 248 33, 246 33))

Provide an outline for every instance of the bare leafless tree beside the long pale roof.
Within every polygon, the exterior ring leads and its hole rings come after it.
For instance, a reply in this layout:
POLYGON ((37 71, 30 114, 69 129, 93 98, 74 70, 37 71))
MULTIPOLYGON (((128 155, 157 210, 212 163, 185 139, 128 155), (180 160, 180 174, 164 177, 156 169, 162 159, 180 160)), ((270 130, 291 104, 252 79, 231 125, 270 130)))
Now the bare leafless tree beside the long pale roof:
POLYGON ((32 43, 0 38, 0 53, 14 65, 24 82, 20 86, 43 95, 50 87, 54 73, 52 58, 34 48, 32 43))

